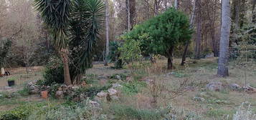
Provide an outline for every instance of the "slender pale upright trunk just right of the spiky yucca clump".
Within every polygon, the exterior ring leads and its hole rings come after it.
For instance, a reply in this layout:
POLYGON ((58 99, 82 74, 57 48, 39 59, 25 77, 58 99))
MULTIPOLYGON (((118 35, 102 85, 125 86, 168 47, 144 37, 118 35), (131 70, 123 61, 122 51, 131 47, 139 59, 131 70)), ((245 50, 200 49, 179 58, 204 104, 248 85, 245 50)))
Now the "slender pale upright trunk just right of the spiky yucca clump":
POLYGON ((109 14, 108 14, 108 0, 105 0, 105 15, 106 15, 106 54, 105 54, 105 66, 108 66, 108 54, 109 54, 109 14))

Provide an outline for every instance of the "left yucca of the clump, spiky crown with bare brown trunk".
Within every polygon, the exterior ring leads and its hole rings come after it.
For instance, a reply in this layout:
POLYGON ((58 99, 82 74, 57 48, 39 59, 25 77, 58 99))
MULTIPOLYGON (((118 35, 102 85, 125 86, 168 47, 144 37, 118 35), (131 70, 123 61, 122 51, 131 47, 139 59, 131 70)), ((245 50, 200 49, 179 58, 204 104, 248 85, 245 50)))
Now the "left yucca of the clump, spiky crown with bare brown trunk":
POLYGON ((35 6, 42 16, 44 24, 52 30, 53 43, 62 57, 64 66, 64 82, 71 84, 70 70, 68 64, 68 39, 67 26, 70 19, 72 7, 71 0, 35 0, 35 6))

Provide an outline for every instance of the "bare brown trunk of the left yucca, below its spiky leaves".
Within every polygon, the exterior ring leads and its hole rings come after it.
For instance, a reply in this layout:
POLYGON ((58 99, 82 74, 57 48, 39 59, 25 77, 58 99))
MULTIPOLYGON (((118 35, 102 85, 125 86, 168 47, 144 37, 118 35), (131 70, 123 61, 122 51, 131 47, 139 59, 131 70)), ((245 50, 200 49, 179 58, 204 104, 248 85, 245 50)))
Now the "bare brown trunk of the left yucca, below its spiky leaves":
POLYGON ((60 50, 60 55, 62 57, 62 62, 63 62, 63 70, 64 70, 64 84, 69 86, 71 83, 70 79, 70 67, 68 63, 68 49, 61 49, 60 50))

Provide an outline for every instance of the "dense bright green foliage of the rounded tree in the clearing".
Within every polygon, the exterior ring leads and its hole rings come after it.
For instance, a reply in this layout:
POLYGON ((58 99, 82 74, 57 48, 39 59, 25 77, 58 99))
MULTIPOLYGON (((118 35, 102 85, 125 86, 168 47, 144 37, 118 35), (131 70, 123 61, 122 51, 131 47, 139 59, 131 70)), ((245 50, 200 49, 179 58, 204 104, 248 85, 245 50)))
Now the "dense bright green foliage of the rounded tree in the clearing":
POLYGON ((171 8, 136 26, 123 38, 141 41, 143 54, 161 54, 168 57, 169 49, 189 41, 191 34, 186 15, 171 8))

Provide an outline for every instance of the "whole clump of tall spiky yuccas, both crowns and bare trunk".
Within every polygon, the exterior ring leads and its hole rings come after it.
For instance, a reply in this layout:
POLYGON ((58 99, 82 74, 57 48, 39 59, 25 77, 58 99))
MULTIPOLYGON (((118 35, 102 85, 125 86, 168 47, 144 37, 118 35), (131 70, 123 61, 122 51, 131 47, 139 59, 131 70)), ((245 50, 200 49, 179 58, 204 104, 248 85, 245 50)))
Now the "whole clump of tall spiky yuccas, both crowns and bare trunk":
POLYGON ((100 0, 35 0, 35 6, 52 30, 65 84, 70 85, 91 66, 93 46, 103 28, 104 4, 100 0))

